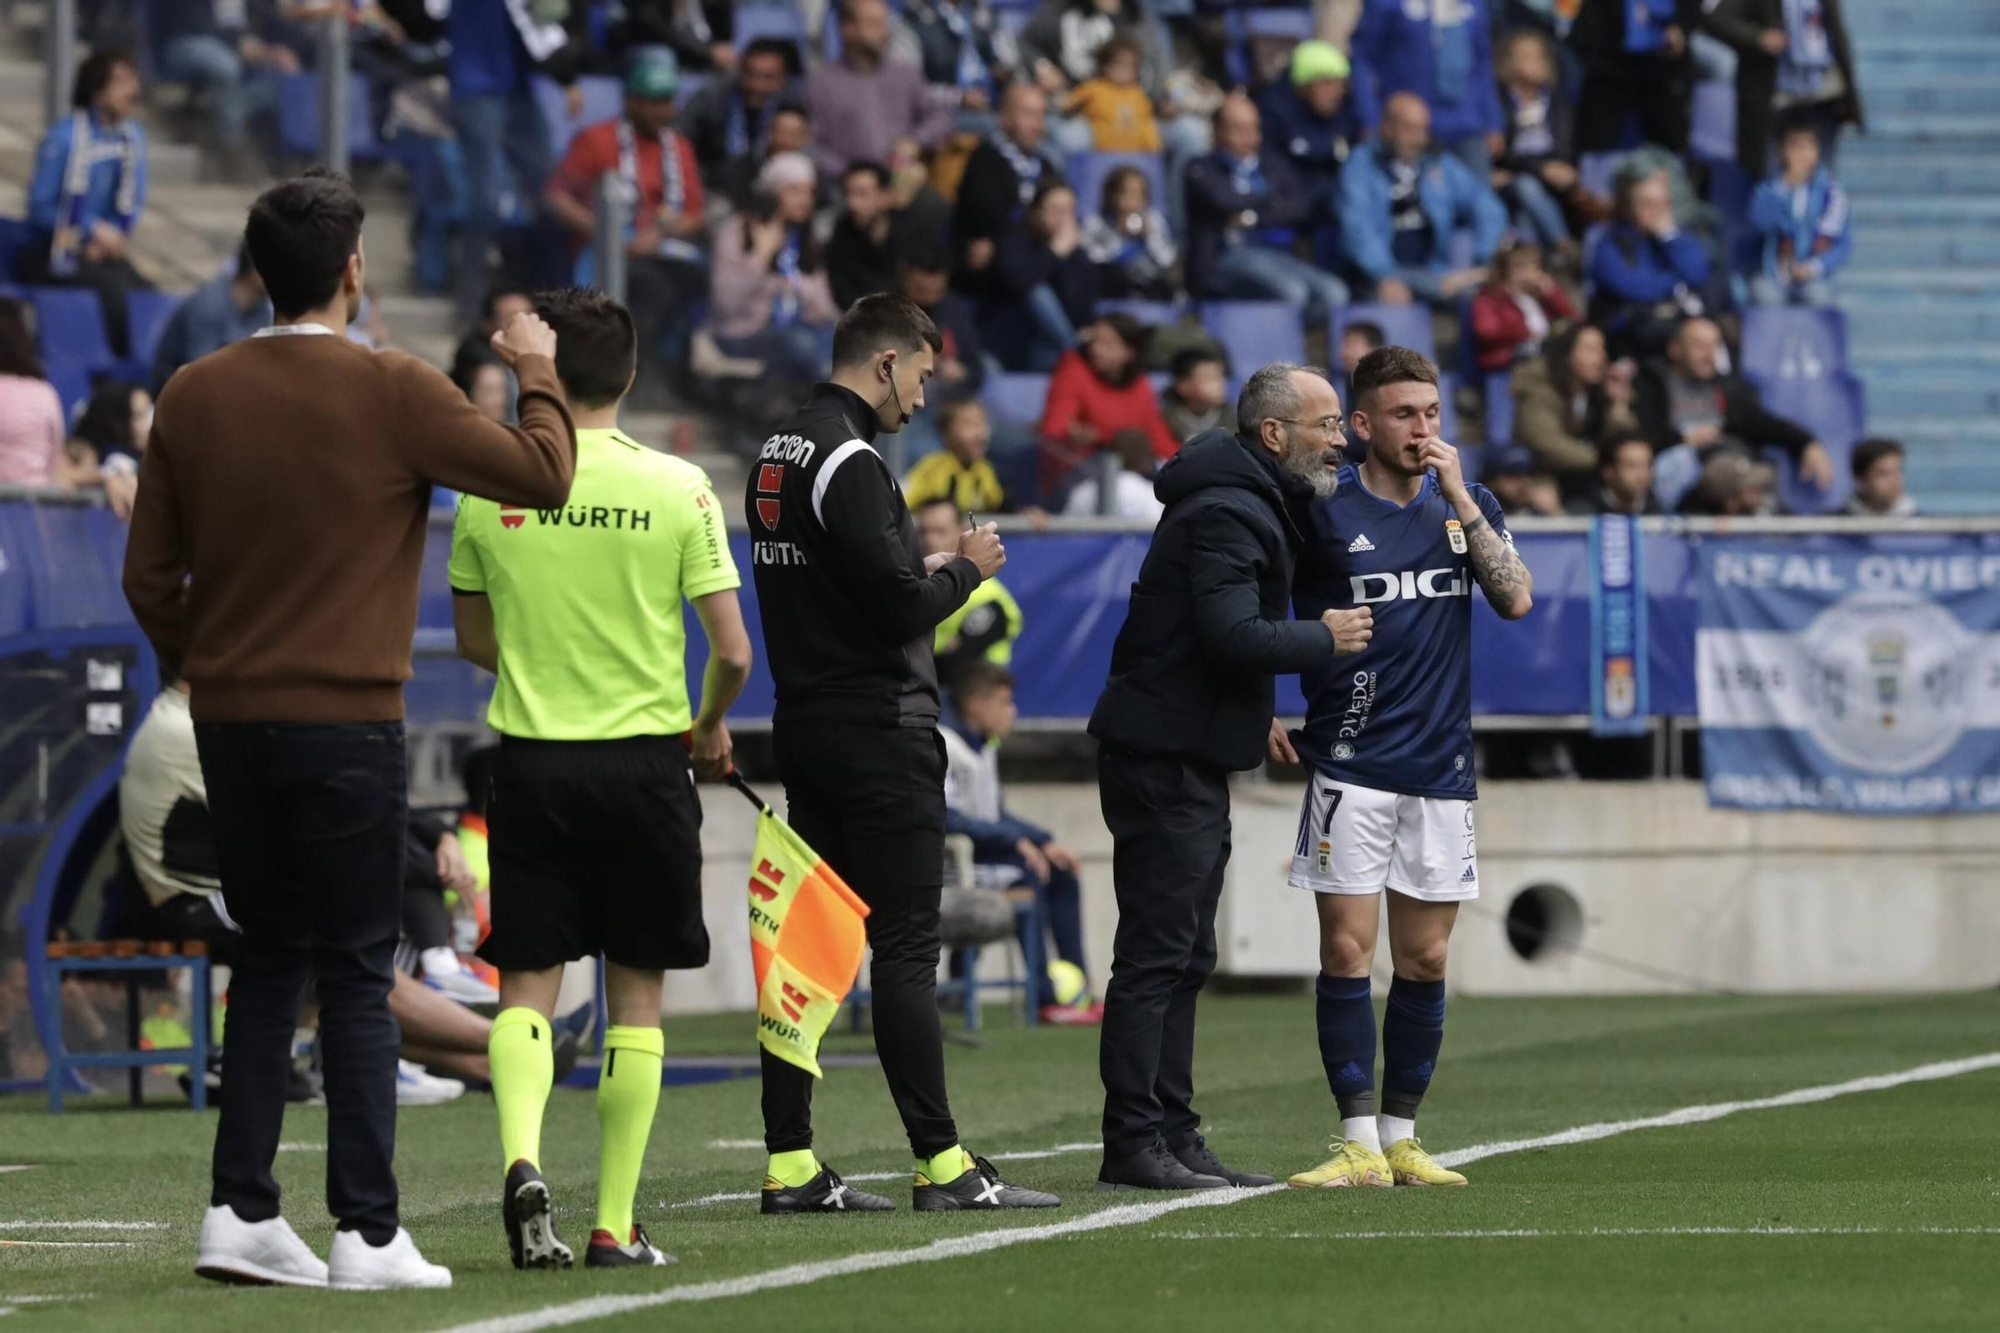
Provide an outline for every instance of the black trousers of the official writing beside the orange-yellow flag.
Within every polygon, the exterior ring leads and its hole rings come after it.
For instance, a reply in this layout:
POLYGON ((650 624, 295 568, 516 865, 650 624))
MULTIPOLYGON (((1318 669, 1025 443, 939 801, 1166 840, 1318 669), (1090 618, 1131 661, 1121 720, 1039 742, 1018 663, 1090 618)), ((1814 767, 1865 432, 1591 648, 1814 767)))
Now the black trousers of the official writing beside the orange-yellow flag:
MULTIPOLYGON (((930 727, 778 723, 786 821, 868 905, 876 1053, 910 1151, 958 1143, 944 1095, 938 897, 944 739, 930 727)), ((812 1075, 764 1057, 764 1147, 812 1147, 812 1075)))

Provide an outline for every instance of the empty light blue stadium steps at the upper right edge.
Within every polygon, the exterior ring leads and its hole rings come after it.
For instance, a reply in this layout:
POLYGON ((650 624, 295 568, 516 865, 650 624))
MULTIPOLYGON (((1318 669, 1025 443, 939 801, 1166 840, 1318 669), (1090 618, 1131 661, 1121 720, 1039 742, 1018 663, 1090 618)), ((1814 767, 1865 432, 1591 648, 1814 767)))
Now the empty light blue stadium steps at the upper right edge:
POLYGON ((1840 146, 1840 278, 1868 430, 1932 514, 2000 510, 2000 2, 1850 4, 1868 134, 1840 146))

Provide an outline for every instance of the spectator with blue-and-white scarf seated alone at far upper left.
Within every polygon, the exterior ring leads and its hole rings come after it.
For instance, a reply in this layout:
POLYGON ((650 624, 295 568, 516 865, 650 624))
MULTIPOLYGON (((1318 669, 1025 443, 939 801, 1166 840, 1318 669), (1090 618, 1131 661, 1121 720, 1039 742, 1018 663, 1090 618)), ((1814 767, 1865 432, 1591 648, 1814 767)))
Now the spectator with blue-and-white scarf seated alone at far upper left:
POLYGON ((88 286, 104 304, 112 352, 128 354, 126 294, 152 286, 126 248, 146 208, 146 134, 138 112, 138 64, 98 50, 76 70, 70 116, 48 126, 28 186, 22 282, 88 286))

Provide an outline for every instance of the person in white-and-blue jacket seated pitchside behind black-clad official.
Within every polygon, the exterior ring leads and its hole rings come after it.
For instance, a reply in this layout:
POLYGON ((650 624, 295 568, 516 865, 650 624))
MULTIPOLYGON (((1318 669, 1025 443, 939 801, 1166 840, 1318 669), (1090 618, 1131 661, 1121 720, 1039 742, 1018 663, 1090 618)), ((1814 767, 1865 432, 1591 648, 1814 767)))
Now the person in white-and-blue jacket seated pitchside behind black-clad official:
MULTIPOLYGON (((1084 911, 1076 853, 1048 833, 1008 813, 1000 793, 998 747, 1014 731, 1014 675, 986 660, 964 662, 952 679, 950 703, 940 719, 944 737, 944 831, 972 839, 972 875, 980 889, 1034 889, 1038 927, 1054 937, 1054 957, 1084 967, 1084 911)), ((1030 921, 1020 921, 1022 949, 1030 921)), ((1040 949, 1048 957, 1048 949, 1040 949)), ((1104 1019, 1104 1005, 1088 989, 1074 1005, 1056 1003, 1056 985, 1044 973, 1038 1005, 1042 1023, 1090 1025, 1104 1019)))

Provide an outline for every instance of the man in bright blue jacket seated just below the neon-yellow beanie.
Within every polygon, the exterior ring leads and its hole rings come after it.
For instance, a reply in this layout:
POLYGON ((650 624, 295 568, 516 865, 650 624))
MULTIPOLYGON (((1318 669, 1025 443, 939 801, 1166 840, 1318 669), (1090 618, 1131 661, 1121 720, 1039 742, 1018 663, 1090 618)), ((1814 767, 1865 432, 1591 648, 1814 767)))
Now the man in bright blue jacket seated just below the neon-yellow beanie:
POLYGON ((1430 144, 1430 108, 1398 92, 1382 110, 1382 134, 1362 144, 1340 174, 1340 236, 1374 298, 1450 304, 1486 280, 1486 262, 1506 232, 1506 208, 1458 158, 1430 144), (1452 268, 1452 232, 1472 228, 1472 268, 1452 268))

